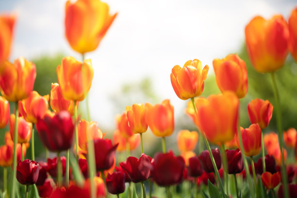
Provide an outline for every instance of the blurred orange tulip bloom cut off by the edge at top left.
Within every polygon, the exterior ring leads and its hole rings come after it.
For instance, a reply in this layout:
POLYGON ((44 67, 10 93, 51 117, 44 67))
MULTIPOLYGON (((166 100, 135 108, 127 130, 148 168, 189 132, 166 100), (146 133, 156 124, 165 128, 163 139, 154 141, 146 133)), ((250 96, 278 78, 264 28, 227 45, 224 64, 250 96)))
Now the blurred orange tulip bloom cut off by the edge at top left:
POLYGON ((9 57, 15 20, 15 16, 0 16, 0 62, 9 57))

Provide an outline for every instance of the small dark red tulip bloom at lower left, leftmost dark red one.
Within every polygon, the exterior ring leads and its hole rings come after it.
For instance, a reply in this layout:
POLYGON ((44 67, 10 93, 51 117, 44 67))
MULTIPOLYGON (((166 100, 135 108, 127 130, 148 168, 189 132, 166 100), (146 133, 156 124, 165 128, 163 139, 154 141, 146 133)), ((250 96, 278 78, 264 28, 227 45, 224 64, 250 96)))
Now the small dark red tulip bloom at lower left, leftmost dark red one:
POLYGON ((23 185, 36 183, 39 174, 39 165, 32 160, 18 161, 16 166, 16 179, 23 185))

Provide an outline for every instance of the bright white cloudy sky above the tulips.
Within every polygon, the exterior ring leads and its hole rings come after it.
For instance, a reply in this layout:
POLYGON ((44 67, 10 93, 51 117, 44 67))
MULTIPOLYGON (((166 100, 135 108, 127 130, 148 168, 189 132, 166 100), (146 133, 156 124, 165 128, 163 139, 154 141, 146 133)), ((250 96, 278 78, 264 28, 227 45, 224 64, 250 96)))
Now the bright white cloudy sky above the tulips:
MULTIPOLYGON (((99 48, 85 58, 92 60, 94 68, 89 93, 91 118, 99 126, 114 128, 115 112, 122 113, 124 109, 111 111, 108 96, 118 92, 123 83, 149 76, 156 93, 161 99, 170 99, 177 116, 183 113, 185 101, 173 91, 173 66, 199 59, 203 66, 210 66, 211 73, 214 58, 223 58, 241 48, 245 26, 254 16, 282 14, 287 19, 297 6, 294 0, 104 2, 109 4, 111 14, 118 15, 99 48)), ((30 60, 57 52, 81 59, 65 38, 65 3, 66 0, 0 0, 0 13, 17 16, 11 61, 19 56, 30 60)))

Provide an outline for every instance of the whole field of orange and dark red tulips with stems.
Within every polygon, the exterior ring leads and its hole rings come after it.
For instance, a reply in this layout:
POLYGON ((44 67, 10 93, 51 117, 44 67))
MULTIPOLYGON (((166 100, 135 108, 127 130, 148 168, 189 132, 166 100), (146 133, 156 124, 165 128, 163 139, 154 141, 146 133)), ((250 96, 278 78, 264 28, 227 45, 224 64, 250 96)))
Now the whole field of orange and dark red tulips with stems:
POLYGON ((282 126, 276 75, 288 56, 297 62, 297 7, 289 18, 255 16, 245 28, 250 62, 271 78, 272 100, 253 98, 239 112, 249 76, 238 54, 213 60, 221 94, 207 98, 200 95, 209 66, 185 60, 172 67, 170 80, 197 131, 175 131, 169 99, 144 101, 116 117, 111 140, 97 122, 81 119, 78 107, 88 100, 94 76, 85 54, 97 49, 116 16, 100 0, 66 2, 65 36, 82 62, 64 57, 58 83, 41 96, 33 90, 35 64, 23 57, 8 61, 17 18, 0 15, 0 128, 9 129, 0 146, 0 198, 297 198, 297 131, 282 126), (248 128, 241 127, 241 114, 248 115, 248 128), (264 133, 273 117, 277 132, 264 133), (162 150, 148 155, 145 132, 159 138, 162 150), (180 155, 166 146, 174 132, 180 155), (34 140, 45 158, 35 156, 34 140), (141 152, 132 156, 138 146, 141 152))

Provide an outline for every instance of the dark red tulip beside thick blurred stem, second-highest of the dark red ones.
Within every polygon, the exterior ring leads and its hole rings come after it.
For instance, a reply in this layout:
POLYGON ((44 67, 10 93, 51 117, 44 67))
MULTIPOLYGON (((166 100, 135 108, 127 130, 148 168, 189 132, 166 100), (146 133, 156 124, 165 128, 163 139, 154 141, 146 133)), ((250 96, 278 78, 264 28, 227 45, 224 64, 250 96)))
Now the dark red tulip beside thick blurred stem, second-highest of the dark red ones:
POLYGON ((97 171, 107 170, 114 164, 115 150, 118 144, 113 146, 109 139, 95 139, 95 162, 97 171))

